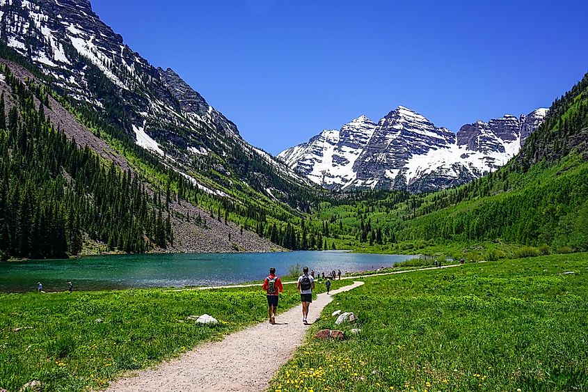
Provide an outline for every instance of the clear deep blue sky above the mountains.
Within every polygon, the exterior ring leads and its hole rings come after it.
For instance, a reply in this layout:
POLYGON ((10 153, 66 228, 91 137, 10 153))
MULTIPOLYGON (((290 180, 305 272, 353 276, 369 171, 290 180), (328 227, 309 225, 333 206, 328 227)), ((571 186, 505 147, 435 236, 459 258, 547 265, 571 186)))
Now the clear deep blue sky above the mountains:
POLYGON ((457 132, 549 107, 588 71, 583 0, 92 3, 273 154, 399 104, 457 132))

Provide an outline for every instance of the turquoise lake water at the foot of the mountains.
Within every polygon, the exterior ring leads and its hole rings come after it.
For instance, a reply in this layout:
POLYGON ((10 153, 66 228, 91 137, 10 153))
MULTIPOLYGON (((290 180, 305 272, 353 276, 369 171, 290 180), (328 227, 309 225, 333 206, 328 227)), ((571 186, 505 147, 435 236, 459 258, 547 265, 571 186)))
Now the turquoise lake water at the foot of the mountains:
POLYGON ((111 288, 184 287, 227 285, 260 281, 269 267, 278 276, 292 265, 307 265, 317 272, 356 272, 390 267, 415 256, 376 255, 345 251, 284 253, 175 253, 92 256, 72 260, 0 262, 0 292, 61 291, 72 281, 74 290, 111 288))

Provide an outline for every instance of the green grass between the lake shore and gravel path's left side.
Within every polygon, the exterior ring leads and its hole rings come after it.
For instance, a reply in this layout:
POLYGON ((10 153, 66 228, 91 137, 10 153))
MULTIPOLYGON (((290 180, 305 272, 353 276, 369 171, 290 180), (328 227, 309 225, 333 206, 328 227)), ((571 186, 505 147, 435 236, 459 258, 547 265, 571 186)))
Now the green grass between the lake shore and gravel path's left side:
MULTIPOLYGON (((333 288, 347 284, 333 282, 333 288)), ((321 291, 323 284, 317 285, 321 291)), ((280 311, 299 301, 296 285, 285 285, 280 311)), ((266 317, 260 288, 0 295, 0 389, 19 391, 31 380, 42 382, 42 391, 102 389, 126 370, 177 356, 266 317), (187 320, 203 313, 220 323, 187 320)))

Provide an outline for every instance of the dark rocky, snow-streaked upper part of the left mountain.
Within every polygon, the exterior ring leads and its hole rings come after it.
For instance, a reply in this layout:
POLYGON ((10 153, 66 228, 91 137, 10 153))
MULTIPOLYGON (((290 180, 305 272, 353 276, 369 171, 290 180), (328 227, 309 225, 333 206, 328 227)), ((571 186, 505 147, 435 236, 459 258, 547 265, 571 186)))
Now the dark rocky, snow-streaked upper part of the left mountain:
POLYGON ((286 183, 308 185, 244 141, 177 73, 132 51, 88 0, 0 0, 0 41, 38 65, 74 106, 95 111, 200 189, 221 194, 209 188, 241 180, 280 198, 292 188, 286 183))

